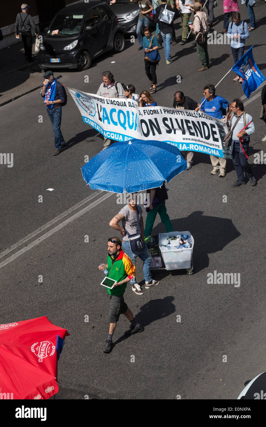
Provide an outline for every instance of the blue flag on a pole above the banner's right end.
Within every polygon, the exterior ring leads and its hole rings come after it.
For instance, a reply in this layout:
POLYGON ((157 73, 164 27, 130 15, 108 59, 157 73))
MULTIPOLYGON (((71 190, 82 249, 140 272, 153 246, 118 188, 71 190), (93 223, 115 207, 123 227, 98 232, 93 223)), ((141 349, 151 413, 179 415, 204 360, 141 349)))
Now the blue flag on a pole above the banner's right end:
POLYGON ((240 58, 234 67, 231 68, 235 73, 243 78, 243 91, 247 98, 254 92, 261 83, 264 82, 265 77, 258 69, 252 54, 252 47, 248 49, 245 55, 240 58))

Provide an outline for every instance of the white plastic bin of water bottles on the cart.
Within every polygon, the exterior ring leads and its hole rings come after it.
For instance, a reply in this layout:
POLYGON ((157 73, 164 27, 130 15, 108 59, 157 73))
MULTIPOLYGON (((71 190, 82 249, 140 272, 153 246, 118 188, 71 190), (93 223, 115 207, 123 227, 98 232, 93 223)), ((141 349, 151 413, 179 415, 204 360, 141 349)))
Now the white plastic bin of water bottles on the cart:
POLYGON ((164 260, 165 268, 167 270, 178 270, 178 269, 190 269, 193 266, 193 247, 194 239, 189 231, 172 231, 171 233, 160 233, 159 234, 159 246, 161 251, 161 257, 164 260), (162 251, 162 242, 165 242, 166 236, 177 236, 178 234, 187 234, 192 240, 191 248, 184 249, 170 249, 169 251, 162 251))

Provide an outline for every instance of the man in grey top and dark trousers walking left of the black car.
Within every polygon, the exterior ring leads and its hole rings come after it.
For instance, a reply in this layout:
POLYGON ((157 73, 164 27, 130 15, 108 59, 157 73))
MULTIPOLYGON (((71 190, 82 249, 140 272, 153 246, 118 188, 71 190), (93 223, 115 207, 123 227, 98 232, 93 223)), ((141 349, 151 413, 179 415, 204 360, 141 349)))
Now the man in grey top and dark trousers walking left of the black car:
POLYGON ((32 59, 32 32, 33 28, 35 35, 38 36, 38 29, 35 26, 35 23, 32 20, 32 17, 28 14, 28 9, 30 6, 23 3, 21 6, 21 12, 18 13, 15 23, 16 36, 18 37, 18 31, 20 32, 23 44, 25 58, 28 62, 33 62, 32 59))

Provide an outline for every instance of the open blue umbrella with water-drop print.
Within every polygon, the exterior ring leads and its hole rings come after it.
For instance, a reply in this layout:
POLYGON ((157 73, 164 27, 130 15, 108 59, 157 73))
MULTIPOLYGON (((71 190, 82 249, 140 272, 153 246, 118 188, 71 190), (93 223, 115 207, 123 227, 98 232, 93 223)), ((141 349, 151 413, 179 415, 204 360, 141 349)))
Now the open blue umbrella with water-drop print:
POLYGON ((185 169, 187 162, 177 147, 141 139, 117 141, 81 168, 93 190, 121 194, 161 187, 185 169))

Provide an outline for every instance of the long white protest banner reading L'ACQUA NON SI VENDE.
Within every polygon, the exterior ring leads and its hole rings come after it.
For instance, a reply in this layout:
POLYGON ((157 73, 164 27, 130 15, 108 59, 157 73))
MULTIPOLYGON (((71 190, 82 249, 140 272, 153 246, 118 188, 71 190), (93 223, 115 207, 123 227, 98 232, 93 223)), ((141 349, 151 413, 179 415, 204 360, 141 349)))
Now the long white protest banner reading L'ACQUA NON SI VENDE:
POLYGON ((140 108, 133 99, 104 98, 68 88, 85 123, 105 138, 149 139, 170 143, 180 151, 230 158, 222 141, 227 126, 204 111, 168 107, 140 108))

